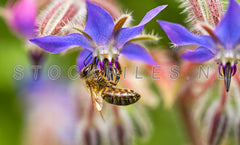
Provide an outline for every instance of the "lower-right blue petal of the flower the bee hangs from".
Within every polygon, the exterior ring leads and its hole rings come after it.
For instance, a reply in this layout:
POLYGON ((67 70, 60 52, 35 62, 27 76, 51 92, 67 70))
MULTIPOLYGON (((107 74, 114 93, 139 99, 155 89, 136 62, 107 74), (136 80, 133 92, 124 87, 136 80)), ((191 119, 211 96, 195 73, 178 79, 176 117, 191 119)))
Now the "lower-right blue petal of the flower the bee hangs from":
POLYGON ((127 43, 124 45, 120 53, 131 60, 138 60, 147 64, 157 65, 156 61, 145 48, 134 43, 127 43))

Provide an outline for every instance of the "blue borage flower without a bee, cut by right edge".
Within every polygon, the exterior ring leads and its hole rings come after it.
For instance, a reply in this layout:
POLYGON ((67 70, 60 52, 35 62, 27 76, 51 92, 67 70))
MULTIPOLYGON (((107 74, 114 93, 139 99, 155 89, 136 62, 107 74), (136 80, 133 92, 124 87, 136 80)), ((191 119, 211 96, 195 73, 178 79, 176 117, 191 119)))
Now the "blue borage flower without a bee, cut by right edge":
POLYGON ((219 65, 219 73, 224 75, 226 91, 229 91, 231 77, 237 70, 240 40, 240 6, 235 0, 230 0, 225 16, 215 30, 203 27, 209 33, 195 35, 185 27, 166 21, 158 21, 169 39, 179 46, 199 45, 195 50, 187 50, 182 59, 192 62, 205 62, 215 58, 219 65), (223 74, 222 74, 223 72, 223 74))

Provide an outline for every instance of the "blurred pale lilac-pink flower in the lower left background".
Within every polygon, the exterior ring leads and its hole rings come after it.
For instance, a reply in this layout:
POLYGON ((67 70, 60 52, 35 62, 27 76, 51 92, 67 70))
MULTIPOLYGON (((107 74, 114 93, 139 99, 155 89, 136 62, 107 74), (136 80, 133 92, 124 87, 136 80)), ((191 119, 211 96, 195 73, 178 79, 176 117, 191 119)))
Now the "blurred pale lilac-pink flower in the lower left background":
POLYGON ((25 113, 27 144, 74 144, 79 118, 76 98, 68 84, 43 79, 20 83, 18 89, 25 113))

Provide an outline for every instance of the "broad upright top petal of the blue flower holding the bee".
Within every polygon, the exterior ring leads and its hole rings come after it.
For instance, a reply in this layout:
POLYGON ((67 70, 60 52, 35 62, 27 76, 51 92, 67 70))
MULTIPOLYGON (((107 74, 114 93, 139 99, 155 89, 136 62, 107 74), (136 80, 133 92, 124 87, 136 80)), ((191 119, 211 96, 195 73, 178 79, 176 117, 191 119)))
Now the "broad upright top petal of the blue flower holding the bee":
POLYGON ((113 35, 114 22, 102 7, 87 1, 87 23, 84 32, 98 45, 106 45, 113 35))

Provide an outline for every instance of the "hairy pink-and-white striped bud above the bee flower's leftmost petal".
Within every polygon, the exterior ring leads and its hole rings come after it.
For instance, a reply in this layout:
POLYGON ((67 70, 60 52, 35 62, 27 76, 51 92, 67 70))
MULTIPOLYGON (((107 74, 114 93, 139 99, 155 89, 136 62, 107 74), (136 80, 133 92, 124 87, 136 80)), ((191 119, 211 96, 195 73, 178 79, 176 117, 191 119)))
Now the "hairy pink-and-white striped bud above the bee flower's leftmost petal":
MULTIPOLYGON (((68 23, 82 24, 86 18, 85 3, 75 0, 56 0, 38 16, 40 36, 56 35, 68 23)), ((64 33, 61 33, 64 34, 64 33)))

